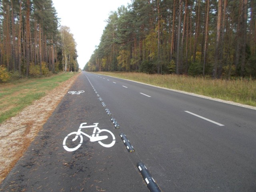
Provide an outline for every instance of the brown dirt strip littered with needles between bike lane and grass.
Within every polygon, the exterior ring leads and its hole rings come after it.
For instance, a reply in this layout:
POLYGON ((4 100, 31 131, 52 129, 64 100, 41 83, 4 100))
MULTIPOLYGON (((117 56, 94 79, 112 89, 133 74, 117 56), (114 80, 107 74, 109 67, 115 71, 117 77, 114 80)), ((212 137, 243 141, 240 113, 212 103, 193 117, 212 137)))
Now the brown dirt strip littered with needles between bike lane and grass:
POLYGON ((0 124, 0 184, 22 157, 78 74, 63 82, 15 117, 0 124))

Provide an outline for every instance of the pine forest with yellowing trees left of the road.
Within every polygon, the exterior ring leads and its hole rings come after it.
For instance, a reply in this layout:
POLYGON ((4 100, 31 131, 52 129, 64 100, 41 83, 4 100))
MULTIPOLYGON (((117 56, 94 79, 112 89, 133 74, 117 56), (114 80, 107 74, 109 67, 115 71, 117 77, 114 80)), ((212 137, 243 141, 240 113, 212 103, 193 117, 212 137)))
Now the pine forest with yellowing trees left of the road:
POLYGON ((0 0, 0 82, 77 71, 76 42, 52 0, 0 0))

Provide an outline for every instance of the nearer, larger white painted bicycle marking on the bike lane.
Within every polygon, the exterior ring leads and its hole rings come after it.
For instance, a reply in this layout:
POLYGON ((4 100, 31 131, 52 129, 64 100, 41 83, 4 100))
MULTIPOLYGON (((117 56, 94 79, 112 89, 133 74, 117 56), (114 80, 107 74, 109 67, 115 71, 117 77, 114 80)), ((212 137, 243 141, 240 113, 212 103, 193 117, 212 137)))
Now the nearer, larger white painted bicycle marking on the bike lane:
POLYGON ((116 142, 114 134, 107 129, 98 128, 99 123, 93 125, 87 125, 87 123, 81 123, 78 131, 71 132, 63 140, 63 147, 66 151, 77 150, 83 142, 83 135, 90 138, 90 142, 98 142, 101 146, 112 147, 116 142), (92 136, 82 132, 84 128, 94 128, 92 136))

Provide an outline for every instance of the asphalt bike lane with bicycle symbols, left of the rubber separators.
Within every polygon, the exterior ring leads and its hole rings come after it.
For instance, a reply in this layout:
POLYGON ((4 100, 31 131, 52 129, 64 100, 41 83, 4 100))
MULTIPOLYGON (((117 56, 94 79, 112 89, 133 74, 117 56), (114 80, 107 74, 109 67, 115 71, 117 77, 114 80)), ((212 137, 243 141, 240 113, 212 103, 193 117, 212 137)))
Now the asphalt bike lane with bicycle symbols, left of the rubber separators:
MULTIPOLYGON (((136 167, 138 155, 126 150, 119 136, 122 130, 114 128, 111 116, 105 112, 96 95, 97 90, 92 86, 83 73, 78 76, 70 91, 84 92, 66 93, 24 156, 2 182, 1 191, 148 191, 136 167), (111 131, 116 140, 114 146, 104 147, 83 135, 82 145, 77 150, 65 150, 64 138, 77 132, 82 123, 88 126, 98 123, 100 130, 111 131)), ((90 136, 93 130, 93 127, 81 129, 90 136)), ((101 142, 111 143, 112 135, 108 132, 99 135, 104 134, 108 138, 101 142)), ((74 148, 79 142, 80 138, 74 142, 68 138, 66 145, 74 148)))

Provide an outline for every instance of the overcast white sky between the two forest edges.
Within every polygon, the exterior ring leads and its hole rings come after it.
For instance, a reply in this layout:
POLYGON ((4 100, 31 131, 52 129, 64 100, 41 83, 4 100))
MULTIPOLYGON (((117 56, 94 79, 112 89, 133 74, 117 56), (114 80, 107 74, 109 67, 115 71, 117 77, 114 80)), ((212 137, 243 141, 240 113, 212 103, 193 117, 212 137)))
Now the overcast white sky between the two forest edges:
POLYGON ((131 0, 52 0, 60 24, 68 26, 77 43, 81 69, 90 60, 106 26, 111 11, 131 3, 131 0))

